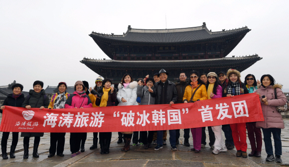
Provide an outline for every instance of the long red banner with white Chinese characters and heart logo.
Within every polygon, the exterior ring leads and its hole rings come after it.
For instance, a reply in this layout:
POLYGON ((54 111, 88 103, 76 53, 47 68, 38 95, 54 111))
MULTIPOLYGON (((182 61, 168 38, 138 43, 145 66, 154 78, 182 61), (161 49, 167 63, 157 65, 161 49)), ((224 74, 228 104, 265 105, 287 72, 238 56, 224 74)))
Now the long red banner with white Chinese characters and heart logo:
POLYGON ((264 121, 257 94, 194 103, 73 109, 5 106, 2 132, 127 132, 264 121))

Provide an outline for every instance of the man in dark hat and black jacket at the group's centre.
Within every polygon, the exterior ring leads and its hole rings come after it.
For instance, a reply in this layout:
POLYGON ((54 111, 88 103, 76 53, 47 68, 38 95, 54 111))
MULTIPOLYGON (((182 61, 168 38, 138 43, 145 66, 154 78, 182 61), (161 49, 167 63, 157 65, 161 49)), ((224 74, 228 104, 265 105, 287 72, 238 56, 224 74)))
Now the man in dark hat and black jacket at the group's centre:
MULTIPOLYGON (((155 94, 155 104, 169 104, 169 106, 171 106, 177 101, 175 84, 168 81, 167 76, 168 73, 164 69, 161 69, 158 73, 160 81, 154 84, 156 91, 153 92, 155 94)), ((154 148, 154 150, 159 150, 162 148, 162 133, 163 131, 157 131, 157 146, 154 148)), ((172 150, 177 150, 175 140, 175 130, 169 130, 169 142, 172 150)))

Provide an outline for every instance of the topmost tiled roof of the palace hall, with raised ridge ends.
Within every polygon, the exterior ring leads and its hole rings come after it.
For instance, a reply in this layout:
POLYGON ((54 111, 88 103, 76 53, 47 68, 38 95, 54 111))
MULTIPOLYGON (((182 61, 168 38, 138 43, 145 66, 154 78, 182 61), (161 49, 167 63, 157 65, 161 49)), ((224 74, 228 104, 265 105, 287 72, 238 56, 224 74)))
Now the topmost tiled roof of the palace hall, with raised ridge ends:
POLYGON ((242 35, 249 32, 247 26, 233 30, 223 30, 211 32, 206 27, 206 23, 198 27, 175 28, 175 29, 134 29, 129 25, 128 30, 123 35, 102 34, 92 32, 90 36, 95 40, 105 40, 115 43, 165 43, 176 44, 183 42, 202 42, 208 40, 217 40, 230 36, 242 35))

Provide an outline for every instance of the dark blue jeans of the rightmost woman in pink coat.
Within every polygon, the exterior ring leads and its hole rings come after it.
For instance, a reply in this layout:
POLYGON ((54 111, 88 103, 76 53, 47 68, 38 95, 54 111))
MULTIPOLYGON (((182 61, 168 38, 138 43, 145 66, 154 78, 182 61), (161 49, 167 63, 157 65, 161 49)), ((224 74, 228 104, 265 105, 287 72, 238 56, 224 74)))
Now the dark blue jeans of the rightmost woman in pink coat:
POLYGON ((265 150, 268 155, 273 154, 273 146, 271 140, 271 133, 273 134, 274 146, 275 146, 275 155, 282 155, 282 142, 281 142, 281 129, 280 128, 262 128, 265 150))

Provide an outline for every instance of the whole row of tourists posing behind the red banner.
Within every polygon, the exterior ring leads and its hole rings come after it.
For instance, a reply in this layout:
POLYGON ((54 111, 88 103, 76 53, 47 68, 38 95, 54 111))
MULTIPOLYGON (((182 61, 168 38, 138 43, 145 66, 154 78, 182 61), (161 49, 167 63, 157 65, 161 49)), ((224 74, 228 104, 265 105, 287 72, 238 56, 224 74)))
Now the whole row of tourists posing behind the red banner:
MULTIPOLYGON (((154 74, 153 78, 148 75, 144 79, 133 80, 133 76, 125 74, 117 88, 112 86, 110 79, 98 77, 94 89, 89 88, 86 81, 77 81, 74 85, 74 92, 68 94, 66 92, 67 85, 64 82, 58 84, 58 92, 55 93, 50 102, 45 95, 43 82, 35 81, 33 89, 29 91, 29 95, 24 97, 21 93, 23 86, 19 83, 12 85, 13 93, 8 94, 4 100, 0 110, 6 106, 30 108, 60 109, 60 108, 89 108, 89 107, 105 107, 105 106, 129 106, 129 105, 153 105, 168 104, 169 106, 176 103, 198 102, 200 100, 215 99, 221 97, 233 97, 240 94, 256 93, 260 96, 264 121, 236 123, 230 125, 218 125, 207 127, 209 131, 209 146, 213 154, 226 152, 236 148, 237 157, 247 158, 247 156, 261 157, 262 151, 262 134, 267 153, 266 161, 276 161, 282 163, 282 142, 281 129, 284 129, 284 121, 281 113, 277 112, 276 106, 285 105, 287 98, 282 92, 282 85, 276 84, 271 75, 263 75, 261 82, 256 80, 255 76, 248 74, 244 83, 241 82, 240 72, 230 69, 227 73, 220 72, 218 74, 210 72, 208 74, 198 74, 192 71, 187 76, 184 72, 179 75, 179 81, 172 83, 167 80, 168 73, 161 69, 159 73, 154 74), (276 92, 276 93, 275 93, 276 92), (247 155, 246 129, 251 144, 251 153, 247 155), (225 140, 223 139, 222 130, 225 140), (275 156, 271 141, 273 134, 275 143, 275 156)), ((249 111, 250 112, 250 111, 249 111)), ((191 131, 193 138, 193 148, 191 151, 200 153, 201 148, 206 146, 206 127, 184 129, 184 146, 189 147, 189 132, 191 131)), ((144 149, 151 148, 156 145, 154 150, 159 150, 166 145, 165 131, 142 131, 142 132, 119 132, 119 140, 117 143, 124 142, 122 151, 129 151, 131 140, 133 138, 133 146, 142 145, 144 149), (140 137, 139 137, 140 134, 140 137)), ((40 137, 44 133, 22 132, 24 155, 28 158, 29 138, 34 137, 33 154, 38 158, 37 153, 40 137)), ((9 132, 3 132, 1 140, 2 158, 8 159, 6 148, 9 132)), ((85 151, 84 145, 87 133, 70 133, 70 151, 71 157, 75 157, 85 151)), ((169 143, 172 150, 177 150, 179 144, 180 130, 169 130, 169 143)), ((112 138, 112 132, 100 132, 99 144, 101 154, 109 154, 109 148, 112 138)), ((14 152, 18 142, 18 132, 12 132, 12 144, 10 147, 10 158, 15 158, 14 152)), ((50 149, 48 157, 63 157, 65 144, 65 133, 50 133, 50 149)), ((98 144, 98 132, 93 133, 93 145, 91 150, 96 149, 98 144)))

